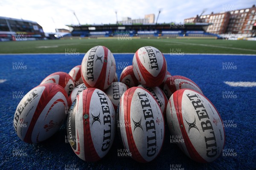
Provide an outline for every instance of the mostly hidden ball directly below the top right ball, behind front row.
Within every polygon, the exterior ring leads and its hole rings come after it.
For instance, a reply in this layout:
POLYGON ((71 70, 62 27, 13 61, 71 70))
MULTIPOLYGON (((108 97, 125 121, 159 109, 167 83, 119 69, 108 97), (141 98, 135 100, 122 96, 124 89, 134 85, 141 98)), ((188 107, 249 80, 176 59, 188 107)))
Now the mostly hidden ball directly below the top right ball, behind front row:
POLYGON ((138 85, 138 87, 145 88, 150 92, 152 96, 154 96, 154 98, 157 100, 158 105, 161 108, 161 111, 163 112, 163 117, 166 119, 166 106, 168 103, 168 99, 163 91, 159 87, 148 88, 145 85, 138 85))

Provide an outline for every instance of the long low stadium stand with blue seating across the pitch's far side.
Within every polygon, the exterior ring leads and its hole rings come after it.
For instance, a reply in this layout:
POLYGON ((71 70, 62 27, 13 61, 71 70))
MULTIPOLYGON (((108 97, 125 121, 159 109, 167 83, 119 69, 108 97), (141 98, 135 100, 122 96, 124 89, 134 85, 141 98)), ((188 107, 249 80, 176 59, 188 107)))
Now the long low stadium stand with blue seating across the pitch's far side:
MULTIPOLYGON (((69 25, 67 25, 69 26, 69 25)), ((209 23, 200 24, 105 24, 105 25, 70 25, 72 36, 79 37, 140 37, 140 38, 175 38, 175 37, 218 37, 206 33, 209 23), (90 29, 93 28, 93 31, 90 29)))

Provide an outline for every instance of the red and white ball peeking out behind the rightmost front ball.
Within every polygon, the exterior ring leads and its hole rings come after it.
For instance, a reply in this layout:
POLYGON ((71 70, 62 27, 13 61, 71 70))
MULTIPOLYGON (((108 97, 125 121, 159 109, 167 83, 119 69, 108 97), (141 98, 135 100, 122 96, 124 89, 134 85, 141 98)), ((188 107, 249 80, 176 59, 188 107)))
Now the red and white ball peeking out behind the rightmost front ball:
POLYGON ((189 88, 203 94, 201 89, 195 82, 183 76, 171 76, 166 79, 163 86, 163 91, 169 99, 172 94, 183 88, 189 88))

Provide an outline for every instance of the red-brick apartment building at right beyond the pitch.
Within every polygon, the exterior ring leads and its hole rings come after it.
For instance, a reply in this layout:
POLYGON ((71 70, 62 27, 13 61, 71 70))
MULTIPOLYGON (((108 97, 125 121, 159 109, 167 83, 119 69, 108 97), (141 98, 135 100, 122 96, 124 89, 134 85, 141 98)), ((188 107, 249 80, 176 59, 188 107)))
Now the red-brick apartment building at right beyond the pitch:
POLYGON ((184 23, 212 23, 207 32, 213 34, 241 34, 246 37, 256 34, 256 7, 234 9, 214 14, 187 18, 184 23), (253 26, 254 25, 254 26, 253 26))

